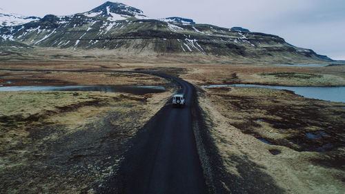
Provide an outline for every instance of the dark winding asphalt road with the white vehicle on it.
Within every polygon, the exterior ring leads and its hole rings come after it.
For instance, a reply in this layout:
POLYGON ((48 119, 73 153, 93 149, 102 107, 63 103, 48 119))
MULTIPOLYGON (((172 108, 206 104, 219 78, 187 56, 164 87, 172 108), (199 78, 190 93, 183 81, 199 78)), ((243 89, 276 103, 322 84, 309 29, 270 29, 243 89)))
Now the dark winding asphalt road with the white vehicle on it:
POLYGON ((168 103, 133 140, 119 174, 104 193, 208 193, 193 134, 193 86, 175 80, 186 97, 185 108, 168 103))

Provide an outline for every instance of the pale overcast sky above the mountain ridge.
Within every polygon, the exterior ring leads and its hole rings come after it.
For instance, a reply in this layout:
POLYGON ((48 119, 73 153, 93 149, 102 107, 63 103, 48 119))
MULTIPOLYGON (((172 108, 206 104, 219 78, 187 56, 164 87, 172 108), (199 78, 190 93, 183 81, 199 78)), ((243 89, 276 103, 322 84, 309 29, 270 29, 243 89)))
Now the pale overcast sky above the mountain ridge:
MULTIPOLYGON (((1 0, 8 12, 43 17, 86 12, 102 0, 1 0)), ((345 60, 345 0, 119 0, 150 18, 186 17, 197 23, 278 35, 320 55, 345 60)))

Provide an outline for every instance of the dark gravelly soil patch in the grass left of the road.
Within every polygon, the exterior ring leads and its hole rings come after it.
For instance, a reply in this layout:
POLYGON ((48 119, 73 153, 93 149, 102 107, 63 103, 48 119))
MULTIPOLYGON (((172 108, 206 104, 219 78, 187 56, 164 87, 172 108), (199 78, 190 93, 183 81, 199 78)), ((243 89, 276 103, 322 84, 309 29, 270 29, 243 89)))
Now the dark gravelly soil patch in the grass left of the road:
POLYGON ((116 173, 142 114, 144 112, 120 114, 113 111, 73 133, 68 133, 63 125, 31 126, 28 128, 29 143, 19 142, 7 153, 26 148, 35 154, 27 156, 26 165, 6 168, 0 178, 1 191, 60 193, 67 191, 69 186, 82 188, 82 191, 97 188, 103 179, 116 173), (128 117, 132 122, 121 126, 113 124, 115 120, 128 117), (46 138, 51 135, 57 138, 46 138), (32 185, 23 186, 23 182, 31 182, 32 185), (49 188, 44 185, 49 185, 49 188))

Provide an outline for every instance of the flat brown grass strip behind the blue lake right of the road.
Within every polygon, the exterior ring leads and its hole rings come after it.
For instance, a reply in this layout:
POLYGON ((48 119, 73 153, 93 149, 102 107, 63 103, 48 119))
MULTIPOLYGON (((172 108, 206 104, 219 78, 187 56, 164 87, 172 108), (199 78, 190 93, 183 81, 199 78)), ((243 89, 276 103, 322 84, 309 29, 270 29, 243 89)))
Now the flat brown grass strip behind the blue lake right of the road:
POLYGON ((263 65, 190 65, 182 77, 193 84, 264 84, 282 86, 345 86, 345 67, 263 65))

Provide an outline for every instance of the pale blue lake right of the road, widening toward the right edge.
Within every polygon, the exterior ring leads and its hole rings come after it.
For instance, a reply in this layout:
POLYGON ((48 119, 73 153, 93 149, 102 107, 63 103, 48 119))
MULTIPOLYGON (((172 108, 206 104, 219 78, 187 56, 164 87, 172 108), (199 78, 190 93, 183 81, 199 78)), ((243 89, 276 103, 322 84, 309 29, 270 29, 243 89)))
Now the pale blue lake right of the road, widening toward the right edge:
POLYGON ((345 102, 345 87, 293 87, 293 86, 264 86, 254 84, 212 85, 202 88, 241 87, 241 88, 266 88, 275 90, 291 90, 297 95, 307 98, 322 99, 327 101, 345 102))

